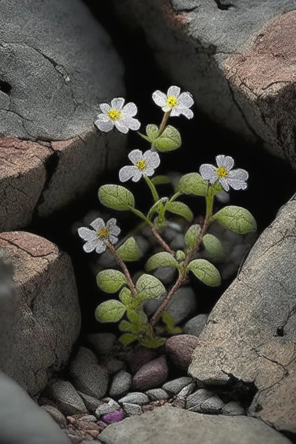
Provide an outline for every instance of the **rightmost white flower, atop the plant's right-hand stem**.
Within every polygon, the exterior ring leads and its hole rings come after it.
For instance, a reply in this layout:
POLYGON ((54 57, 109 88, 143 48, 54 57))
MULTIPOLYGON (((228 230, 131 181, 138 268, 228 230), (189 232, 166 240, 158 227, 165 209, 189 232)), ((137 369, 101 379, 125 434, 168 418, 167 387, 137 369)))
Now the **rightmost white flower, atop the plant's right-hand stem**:
POLYGON ((211 185, 219 182, 225 191, 229 191, 229 185, 233 189, 246 189, 246 180, 249 174, 245 169, 232 169, 234 160, 230 156, 220 155, 216 157, 217 166, 203 164, 200 173, 203 179, 208 180, 211 185))

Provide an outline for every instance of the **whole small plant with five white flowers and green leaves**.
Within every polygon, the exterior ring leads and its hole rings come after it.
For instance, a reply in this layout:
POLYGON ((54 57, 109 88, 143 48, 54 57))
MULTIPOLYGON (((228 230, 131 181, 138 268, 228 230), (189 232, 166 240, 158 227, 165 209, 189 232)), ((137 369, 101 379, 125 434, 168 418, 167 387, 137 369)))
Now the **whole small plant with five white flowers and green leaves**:
MULTIPOLYGON (((234 160, 230 156, 216 157, 217 165, 204 164, 199 173, 185 174, 179 180, 175 194, 170 197, 160 197, 156 186, 168 183, 166 176, 154 176, 155 169, 160 165, 158 152, 167 152, 181 146, 179 131, 167 125, 170 116, 185 115, 188 119, 193 117, 191 107, 193 98, 189 92, 180 93, 180 88, 172 86, 167 94, 156 91, 152 98, 156 105, 164 111, 160 126, 148 125, 146 134, 138 134, 148 142, 150 149, 144 153, 134 149, 129 153, 131 165, 124 166, 119 171, 121 182, 129 180, 138 182, 142 178, 148 185, 152 195, 152 205, 147 214, 143 214, 135 206, 135 199, 128 188, 121 185, 103 185, 99 188, 100 202, 114 210, 131 211, 147 224, 153 236, 161 246, 159 253, 151 256, 146 263, 146 272, 133 283, 126 262, 141 258, 141 252, 133 237, 129 237, 121 246, 116 247, 120 228, 116 219, 110 219, 106 224, 98 218, 91 223, 92 229, 79 228, 79 236, 86 241, 83 248, 86 252, 96 251, 102 253, 107 249, 111 251, 120 268, 107 269, 98 273, 97 285, 106 293, 119 292, 118 299, 110 299, 101 303, 95 312, 100 322, 117 322, 122 332, 119 340, 128 345, 138 341, 145 347, 157 348, 166 342, 169 335, 181 333, 182 330, 174 325, 172 317, 166 313, 166 306, 174 293, 185 284, 188 275, 201 280, 204 284, 217 287, 221 284, 220 273, 217 268, 206 259, 196 259, 196 253, 203 244, 207 258, 214 260, 222 256, 222 244, 215 236, 208 234, 207 230, 214 221, 219 222, 229 230, 239 234, 246 234, 256 230, 253 216, 239 206, 226 206, 213 214, 213 204, 217 193, 222 190, 229 191, 246 189, 248 173, 244 169, 233 169, 234 160), (153 178, 151 178, 154 176, 153 178), (185 234, 186 248, 184 251, 173 251, 162 237, 166 227, 167 213, 182 216, 186 221, 193 221, 191 209, 179 199, 184 194, 203 196, 205 199, 205 216, 203 223, 192 224, 185 234), (168 291, 162 282, 149 273, 157 267, 171 266, 177 269, 178 277, 168 291), (143 304, 149 299, 157 299, 165 295, 158 310, 148 319, 143 304), (161 332, 161 333, 159 333, 161 332)), ((102 131, 110 131, 114 126, 123 133, 129 129, 138 130, 140 122, 134 118, 137 107, 134 103, 124 106, 123 98, 115 98, 111 105, 100 105, 102 111, 98 115, 95 125, 102 131)))

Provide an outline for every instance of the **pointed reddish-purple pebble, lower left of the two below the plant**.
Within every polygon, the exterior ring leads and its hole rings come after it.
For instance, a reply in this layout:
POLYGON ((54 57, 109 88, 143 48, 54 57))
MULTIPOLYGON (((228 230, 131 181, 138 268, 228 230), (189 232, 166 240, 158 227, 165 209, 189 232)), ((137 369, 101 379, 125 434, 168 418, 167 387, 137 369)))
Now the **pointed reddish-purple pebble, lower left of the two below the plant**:
POLYGON ((146 391, 149 388, 158 388, 167 378, 168 368, 166 356, 160 356, 144 364, 132 378, 132 387, 136 390, 146 391))

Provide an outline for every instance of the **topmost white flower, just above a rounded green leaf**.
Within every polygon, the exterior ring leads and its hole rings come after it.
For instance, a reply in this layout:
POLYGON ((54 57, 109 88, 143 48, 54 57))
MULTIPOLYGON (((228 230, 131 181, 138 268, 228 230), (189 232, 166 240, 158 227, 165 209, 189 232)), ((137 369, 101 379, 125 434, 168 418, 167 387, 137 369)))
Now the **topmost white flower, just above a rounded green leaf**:
POLYGON ((155 91, 152 98, 156 105, 160 106, 164 112, 170 111, 171 116, 179 116, 184 114, 187 119, 192 119, 193 112, 189 110, 194 100, 190 92, 182 92, 178 86, 171 86, 167 93, 155 91))

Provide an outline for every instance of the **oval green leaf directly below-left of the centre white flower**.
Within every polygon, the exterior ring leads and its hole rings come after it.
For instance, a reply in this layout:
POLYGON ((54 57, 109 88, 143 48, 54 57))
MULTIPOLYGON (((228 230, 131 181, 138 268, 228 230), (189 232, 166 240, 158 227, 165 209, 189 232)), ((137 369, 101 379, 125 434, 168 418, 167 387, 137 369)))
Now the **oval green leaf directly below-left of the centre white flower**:
POLYGON ((132 193, 121 185, 100 186, 98 196, 100 203, 113 210, 129 210, 135 206, 132 193))

